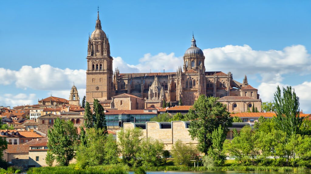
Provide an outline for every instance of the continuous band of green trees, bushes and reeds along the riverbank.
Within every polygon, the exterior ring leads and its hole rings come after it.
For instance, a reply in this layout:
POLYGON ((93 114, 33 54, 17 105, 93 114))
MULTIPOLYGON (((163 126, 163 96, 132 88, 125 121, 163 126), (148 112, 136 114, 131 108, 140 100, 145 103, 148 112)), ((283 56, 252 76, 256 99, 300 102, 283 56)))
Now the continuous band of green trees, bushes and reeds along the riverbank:
POLYGON ((144 138, 140 128, 121 129, 116 142, 111 135, 107 136, 104 109, 96 100, 93 107, 94 112, 91 112, 86 102, 86 130, 80 128, 80 134, 64 121, 55 121, 49 132, 48 146, 58 165, 67 166, 71 157, 77 159, 77 163, 68 167, 32 168, 28 173, 44 174, 50 170, 56 174, 66 169, 79 174, 90 173, 90 170, 94 173, 110 171, 111 174, 143 173, 142 169, 303 172, 311 167, 311 124, 308 119, 299 117, 299 98, 290 87, 283 88, 282 94, 277 88, 273 102, 277 117, 261 117, 253 128, 245 126, 239 132, 234 129, 232 140, 225 138, 228 128, 233 120, 241 120, 230 118, 217 98, 201 95, 186 116, 177 114, 169 118, 192 120, 189 134, 198 145, 178 140, 170 152, 165 150, 163 142, 144 138), (226 160, 228 157, 234 160, 226 160), (194 167, 193 158, 199 159, 199 166, 194 167))

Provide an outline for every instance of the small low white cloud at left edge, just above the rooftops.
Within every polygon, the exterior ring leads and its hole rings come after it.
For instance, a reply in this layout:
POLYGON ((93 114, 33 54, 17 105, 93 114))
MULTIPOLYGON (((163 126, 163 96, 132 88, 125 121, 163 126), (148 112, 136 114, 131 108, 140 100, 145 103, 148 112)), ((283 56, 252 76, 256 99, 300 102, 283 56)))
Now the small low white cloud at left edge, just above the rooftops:
POLYGON ((17 106, 33 104, 36 99, 36 94, 4 94, 0 96, 0 106, 17 106))

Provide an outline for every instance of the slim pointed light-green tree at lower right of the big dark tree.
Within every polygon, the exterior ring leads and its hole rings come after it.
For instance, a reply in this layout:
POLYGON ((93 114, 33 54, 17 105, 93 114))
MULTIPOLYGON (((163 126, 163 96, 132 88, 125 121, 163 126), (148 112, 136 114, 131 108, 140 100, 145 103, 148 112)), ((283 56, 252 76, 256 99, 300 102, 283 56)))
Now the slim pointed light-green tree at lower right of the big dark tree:
POLYGON ((208 150, 208 155, 213 159, 214 166, 225 164, 226 155, 223 150, 223 143, 226 140, 226 133, 221 125, 212 132, 212 146, 208 150))

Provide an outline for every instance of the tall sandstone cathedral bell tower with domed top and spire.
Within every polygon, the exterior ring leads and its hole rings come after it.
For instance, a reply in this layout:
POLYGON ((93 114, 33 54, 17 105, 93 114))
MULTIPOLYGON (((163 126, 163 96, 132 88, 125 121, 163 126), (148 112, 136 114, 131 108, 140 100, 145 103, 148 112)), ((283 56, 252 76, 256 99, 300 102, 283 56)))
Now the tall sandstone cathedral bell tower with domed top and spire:
POLYGON ((92 104, 95 98, 99 101, 111 99, 114 93, 113 58, 110 56, 108 37, 101 29, 99 11, 95 30, 89 36, 86 59, 86 101, 92 104))

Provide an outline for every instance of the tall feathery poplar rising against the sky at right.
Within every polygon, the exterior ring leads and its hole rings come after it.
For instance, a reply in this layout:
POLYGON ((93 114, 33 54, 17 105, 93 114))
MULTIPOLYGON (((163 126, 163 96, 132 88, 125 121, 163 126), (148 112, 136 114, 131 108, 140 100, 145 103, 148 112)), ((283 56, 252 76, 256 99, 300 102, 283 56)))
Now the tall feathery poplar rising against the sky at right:
POLYGON ((291 86, 283 88, 283 94, 278 86, 274 93, 274 106, 276 117, 274 117, 276 127, 286 132, 287 137, 299 133, 303 118, 299 117, 299 97, 296 96, 295 89, 291 86))

